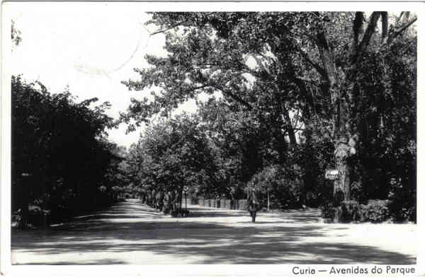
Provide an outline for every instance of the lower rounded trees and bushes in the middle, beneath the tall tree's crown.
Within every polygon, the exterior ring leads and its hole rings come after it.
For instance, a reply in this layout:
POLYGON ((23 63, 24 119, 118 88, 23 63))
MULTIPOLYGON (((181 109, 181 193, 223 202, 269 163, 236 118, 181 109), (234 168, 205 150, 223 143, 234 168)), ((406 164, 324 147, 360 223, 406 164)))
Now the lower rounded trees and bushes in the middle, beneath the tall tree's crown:
POLYGON ((319 199, 331 198, 331 185, 323 175, 326 158, 314 156, 314 151, 331 156, 329 140, 320 146, 294 146, 278 163, 266 129, 229 119, 219 127, 208 122, 212 107, 201 104, 196 114, 183 113, 150 125, 128 149, 123 163, 130 181, 127 189, 147 196, 178 192, 181 200, 187 186, 191 197, 246 199, 249 187, 263 204, 268 199, 275 208, 317 206, 319 199))

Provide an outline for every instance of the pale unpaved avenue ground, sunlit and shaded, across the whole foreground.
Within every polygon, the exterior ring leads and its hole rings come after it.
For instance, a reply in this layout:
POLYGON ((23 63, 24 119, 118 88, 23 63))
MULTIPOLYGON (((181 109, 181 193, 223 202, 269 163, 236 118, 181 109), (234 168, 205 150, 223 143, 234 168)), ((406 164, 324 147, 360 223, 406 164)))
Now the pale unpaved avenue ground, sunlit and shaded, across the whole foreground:
POLYGON ((322 224, 317 210, 188 206, 174 219, 128 199, 46 231, 13 231, 13 265, 412 264, 416 225, 322 224))

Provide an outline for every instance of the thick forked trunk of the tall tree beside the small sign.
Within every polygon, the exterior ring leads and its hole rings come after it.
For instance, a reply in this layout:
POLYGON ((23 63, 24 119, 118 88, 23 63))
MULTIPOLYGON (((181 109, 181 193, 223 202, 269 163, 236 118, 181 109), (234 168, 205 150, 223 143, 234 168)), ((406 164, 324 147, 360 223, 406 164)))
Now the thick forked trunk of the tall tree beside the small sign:
MULTIPOLYGON (((318 12, 317 16, 319 16, 318 12)), ((334 198, 338 202, 344 199, 350 199, 350 169, 348 168, 347 158, 352 154, 356 154, 354 146, 356 146, 358 138, 357 135, 351 137, 350 132, 352 134, 356 134, 357 132, 353 130, 353 127, 348 126, 348 110, 355 105, 349 102, 355 100, 356 88, 353 85, 356 81, 356 71, 358 70, 358 64, 361 63, 361 57, 367 50, 370 40, 375 33, 378 20, 381 16, 382 45, 391 43, 394 37, 402 34, 404 30, 416 21, 416 18, 409 20, 409 12, 402 12, 397 20, 402 21, 402 25, 390 32, 388 30, 388 13, 385 11, 374 11, 368 19, 367 28, 364 30, 364 13, 356 12, 356 17, 353 21, 353 43, 351 44, 350 53, 351 66, 345 74, 339 74, 338 72, 341 69, 336 66, 333 50, 329 47, 326 25, 319 25, 317 30, 316 43, 323 68, 321 69, 319 66, 315 66, 315 68, 319 68, 317 70, 318 73, 329 84, 331 105, 334 107, 334 161, 336 169, 339 170, 339 178, 334 182, 334 198), (362 34, 363 37, 361 38, 362 34), (344 77, 341 78, 340 76, 344 77)), ((381 121, 381 124, 383 125, 384 123, 381 121)), ((339 207, 339 212, 341 212, 341 207, 339 207)), ((339 219, 335 220, 339 221, 339 219)))

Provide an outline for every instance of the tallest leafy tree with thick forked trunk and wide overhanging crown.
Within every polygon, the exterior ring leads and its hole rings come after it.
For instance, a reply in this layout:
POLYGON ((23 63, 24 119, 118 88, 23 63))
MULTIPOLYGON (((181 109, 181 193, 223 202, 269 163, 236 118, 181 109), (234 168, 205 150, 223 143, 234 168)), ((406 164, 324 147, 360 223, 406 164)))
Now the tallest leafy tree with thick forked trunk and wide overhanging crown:
POLYGON ((348 161, 364 141, 364 122, 357 116, 370 93, 360 81, 370 71, 363 65, 373 53, 387 56, 416 44, 414 34, 406 34, 415 21, 407 12, 390 18, 378 11, 368 20, 363 12, 153 13, 148 24, 159 30, 152 35, 165 34, 169 55, 148 55, 152 66, 136 70, 140 80, 124 83, 159 92, 152 91, 150 103, 134 100, 123 119, 166 115, 200 93, 221 93, 232 110, 278 115, 276 129, 294 146, 297 127, 290 112, 299 112, 305 128, 333 141, 340 173, 334 194, 349 199, 348 161))

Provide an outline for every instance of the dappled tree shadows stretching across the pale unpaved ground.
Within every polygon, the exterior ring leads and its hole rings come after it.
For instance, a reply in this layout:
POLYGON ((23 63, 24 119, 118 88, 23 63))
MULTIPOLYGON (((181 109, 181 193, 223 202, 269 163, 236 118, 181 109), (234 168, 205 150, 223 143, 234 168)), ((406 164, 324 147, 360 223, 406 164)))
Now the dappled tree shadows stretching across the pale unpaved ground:
MULTIPOLYGON (((223 211, 194 209, 192 217, 227 217, 223 211), (224 214, 224 215, 222 215, 224 214)), ((13 252, 43 255, 64 253, 148 251, 152 255, 198 256, 197 264, 413 264, 416 258, 353 243, 330 243, 323 229, 329 226, 250 224, 246 213, 236 225, 207 221, 157 221, 164 218, 142 204, 121 203, 97 215, 52 227, 47 231, 13 231, 13 252), (132 210, 135 210, 131 213, 132 210), (114 219, 124 219, 120 222, 114 219), (128 221, 125 221, 128 219, 128 221), (140 221, 144 219, 145 221, 140 221), (147 221, 152 219, 152 221, 147 221), (314 243, 306 241, 314 238, 314 243), (317 241, 319 239, 319 241, 317 241)), ((302 215, 297 215, 302 219, 302 215)), ((307 216, 307 219, 310 217, 307 216)), ((168 219, 170 220, 170 219, 168 219)), ((336 228, 336 227, 335 227, 336 228)), ((339 227, 341 228, 341 227, 339 227)), ((124 260, 92 260, 90 265, 125 264, 124 260)), ((140 262, 141 264, 143 262, 140 262)), ((47 263, 45 263, 47 264, 47 263)), ((54 262, 72 265, 75 262, 54 262)))

